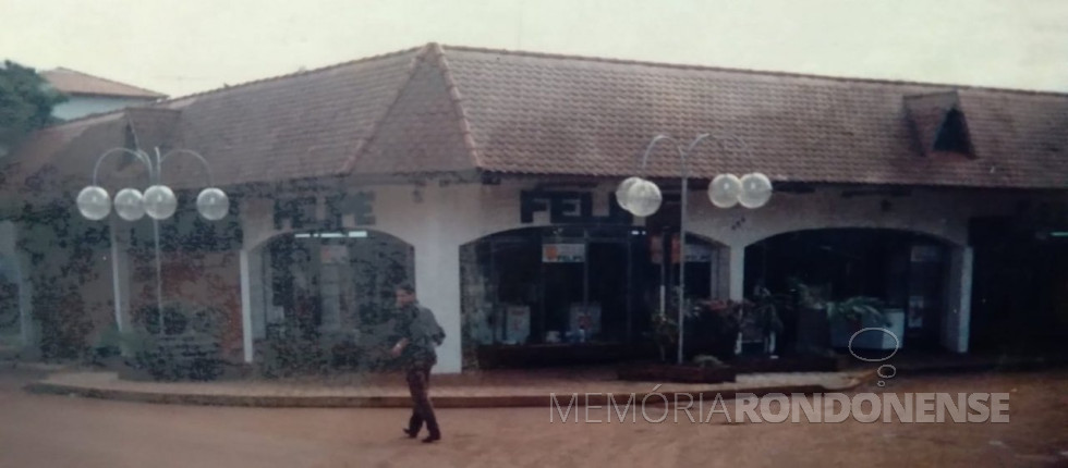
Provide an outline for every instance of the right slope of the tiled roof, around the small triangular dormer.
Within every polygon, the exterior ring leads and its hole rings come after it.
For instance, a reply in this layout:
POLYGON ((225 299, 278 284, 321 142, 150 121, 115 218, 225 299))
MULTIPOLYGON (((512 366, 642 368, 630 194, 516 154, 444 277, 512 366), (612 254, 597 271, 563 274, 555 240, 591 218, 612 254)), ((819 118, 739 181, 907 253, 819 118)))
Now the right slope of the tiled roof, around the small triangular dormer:
MULTIPOLYGON (((483 169, 624 176, 658 133, 727 132, 752 159, 702 144, 696 176, 1068 186, 1068 96, 447 48, 483 169), (922 158, 908 96, 956 90, 976 158, 922 158)), ((652 171, 678 173, 667 149, 652 171)))

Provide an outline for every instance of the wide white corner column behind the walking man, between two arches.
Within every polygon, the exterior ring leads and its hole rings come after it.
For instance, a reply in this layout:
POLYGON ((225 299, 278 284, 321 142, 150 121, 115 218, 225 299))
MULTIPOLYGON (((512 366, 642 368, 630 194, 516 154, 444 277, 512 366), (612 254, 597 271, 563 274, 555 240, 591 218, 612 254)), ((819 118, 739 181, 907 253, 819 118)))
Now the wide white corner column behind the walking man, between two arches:
POLYGON ((435 373, 462 370, 460 346, 460 244, 429 229, 415 247, 415 294, 420 304, 434 311, 446 338, 437 349, 435 373))

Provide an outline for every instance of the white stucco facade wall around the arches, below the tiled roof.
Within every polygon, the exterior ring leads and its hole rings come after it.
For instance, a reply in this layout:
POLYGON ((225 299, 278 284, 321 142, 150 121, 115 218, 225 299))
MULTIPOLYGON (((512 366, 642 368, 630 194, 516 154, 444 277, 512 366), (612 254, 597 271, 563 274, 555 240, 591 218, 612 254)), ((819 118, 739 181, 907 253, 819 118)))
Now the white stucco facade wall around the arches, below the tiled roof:
MULTIPOLYGON (((606 215, 608 194, 615 190, 616 182, 608 182, 592 188, 594 194, 594 214, 606 215)), ((535 182, 506 181, 499 185, 451 185, 430 184, 420 188, 421 196, 413 195, 414 186, 351 187, 353 192, 366 189, 375 193, 372 226, 355 224, 351 215, 343 218, 347 229, 365 227, 397 236, 414 246, 415 286, 420 300, 434 310, 445 328, 448 337, 439 348, 439 365, 436 372, 459 372, 461 369, 461 312, 460 312, 460 246, 480 237, 512 229, 548 225, 548 213, 538 212, 533 223, 520 220, 520 192, 533 188, 535 182)), ((558 188, 569 190, 591 190, 591 188, 558 188)), ((955 315, 945 321, 944 343, 950 349, 967 349, 968 306, 970 294, 970 254, 964 251, 968 243, 968 221, 975 215, 1008 213, 1012 204, 1020 198, 1014 194, 991 194, 966 190, 914 189, 908 196, 863 196, 844 198, 841 188, 822 188, 810 194, 776 194, 772 201, 755 210, 744 208, 717 209, 708 202, 701 190, 690 194, 690 229, 693 234, 724 245, 723 258, 728 261, 720 266, 716 276, 721 284, 714 291, 729 291, 731 298, 743 295, 744 248, 776 234, 791 231, 825 227, 873 227, 905 230, 930 234, 954 247, 951 268, 958 276, 949 286, 948 310, 955 315), (883 209, 883 200, 889 201, 889 209, 883 209), (961 270, 967 266, 967 270, 961 270)), ((248 256, 247 270, 259 266, 257 249, 271 237, 289 230, 275 230, 272 200, 246 199, 242 207, 242 223, 245 235, 245 250, 248 256)), ((636 224, 641 225, 642 220, 636 224)), ((246 330, 259 333, 262 324, 252 319, 252 308, 262 307, 263 284, 256 283, 257 275, 251 274, 243 283, 246 293, 246 330)), ((715 286, 715 285, 714 285, 715 286)), ((246 341, 246 344, 248 342, 246 341)), ((248 359, 251 354, 246 354, 248 359)))

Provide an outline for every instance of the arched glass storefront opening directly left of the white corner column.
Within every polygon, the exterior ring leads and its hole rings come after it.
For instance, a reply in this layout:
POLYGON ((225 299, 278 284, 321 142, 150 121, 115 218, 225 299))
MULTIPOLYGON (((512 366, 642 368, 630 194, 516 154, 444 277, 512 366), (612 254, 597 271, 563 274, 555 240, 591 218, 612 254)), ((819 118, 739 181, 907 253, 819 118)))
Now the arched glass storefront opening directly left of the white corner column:
POLYGON ((253 321, 263 323, 265 352, 305 343, 325 364, 371 365, 368 352, 391 334, 396 287, 414 284, 413 247, 383 232, 345 230, 288 233, 260 248, 263 307, 253 321))

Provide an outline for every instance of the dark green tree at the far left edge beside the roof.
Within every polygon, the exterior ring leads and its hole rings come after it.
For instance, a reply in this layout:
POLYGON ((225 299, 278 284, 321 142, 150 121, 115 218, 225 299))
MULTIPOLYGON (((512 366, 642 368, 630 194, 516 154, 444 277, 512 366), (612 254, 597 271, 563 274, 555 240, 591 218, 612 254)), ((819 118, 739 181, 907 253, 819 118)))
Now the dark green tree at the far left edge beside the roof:
POLYGON ((34 69, 10 60, 0 64, 0 157, 31 132, 52 122, 52 108, 66 97, 34 69))

